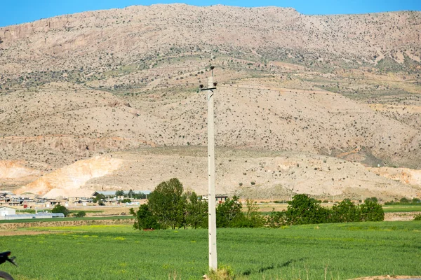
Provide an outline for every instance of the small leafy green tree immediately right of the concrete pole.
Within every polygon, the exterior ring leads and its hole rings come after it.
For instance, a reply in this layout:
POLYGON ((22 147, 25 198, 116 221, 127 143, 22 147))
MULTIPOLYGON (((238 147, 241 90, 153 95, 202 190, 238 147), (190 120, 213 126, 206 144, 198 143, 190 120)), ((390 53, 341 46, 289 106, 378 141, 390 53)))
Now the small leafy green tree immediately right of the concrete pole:
POLYGON ((224 203, 218 204, 216 208, 216 226, 218 228, 229 228, 233 225, 235 219, 243 218, 241 212, 242 204, 239 202, 239 197, 232 197, 232 200, 227 199, 224 203))

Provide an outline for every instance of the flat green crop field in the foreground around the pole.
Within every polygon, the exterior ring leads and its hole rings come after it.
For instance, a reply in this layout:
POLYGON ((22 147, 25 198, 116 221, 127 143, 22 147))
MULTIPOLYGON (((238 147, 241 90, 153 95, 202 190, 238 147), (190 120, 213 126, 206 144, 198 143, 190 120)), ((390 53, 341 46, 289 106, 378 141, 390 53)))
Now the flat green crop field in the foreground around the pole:
MULTIPOLYGON (((208 267, 207 230, 27 230, 62 232, 1 237, 0 250, 11 250, 19 267, 0 268, 15 279, 201 279, 208 267)), ((420 275, 420 236, 421 221, 219 229, 218 261, 236 279, 420 275)))

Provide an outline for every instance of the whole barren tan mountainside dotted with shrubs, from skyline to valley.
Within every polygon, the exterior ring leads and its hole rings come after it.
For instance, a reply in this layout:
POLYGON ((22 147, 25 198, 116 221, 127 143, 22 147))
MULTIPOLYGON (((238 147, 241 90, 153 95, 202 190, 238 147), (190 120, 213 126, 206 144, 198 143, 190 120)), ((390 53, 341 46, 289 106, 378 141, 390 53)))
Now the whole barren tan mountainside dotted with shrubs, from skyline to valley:
MULTIPOLYGON (((419 180, 393 180, 421 169, 420 29, 419 12, 308 16, 182 4, 0 28, 0 189, 34 181, 22 190, 45 194, 67 188, 54 182, 69 180, 66 170, 79 160, 114 155, 124 167, 138 148, 205 146, 206 98, 198 87, 214 65, 217 146, 292 153, 287 161, 295 166, 282 180, 243 177, 250 164, 227 167, 221 192, 415 196, 419 180), (312 172, 302 170, 301 155, 327 156, 332 167, 307 162, 312 172), (35 181, 40 174, 53 178, 44 191, 43 180, 35 181), (255 180, 253 191, 239 186, 246 180, 255 180)), ((178 152, 168 151, 151 153, 155 163, 146 168, 119 167, 69 188, 151 189, 175 176, 202 192, 203 170, 169 172, 165 163, 178 152)), ((274 154, 257 161, 274 172, 285 160, 274 154)))

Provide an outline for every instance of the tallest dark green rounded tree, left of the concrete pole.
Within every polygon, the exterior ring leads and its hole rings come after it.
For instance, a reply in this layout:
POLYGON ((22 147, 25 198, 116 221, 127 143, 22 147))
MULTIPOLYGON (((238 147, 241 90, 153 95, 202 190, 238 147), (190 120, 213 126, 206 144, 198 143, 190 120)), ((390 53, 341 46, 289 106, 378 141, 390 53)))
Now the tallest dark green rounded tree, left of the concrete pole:
POLYGON ((156 216, 161 228, 175 227, 182 225, 182 205, 186 197, 182 195, 182 183, 173 178, 160 183, 149 195, 149 209, 156 216))

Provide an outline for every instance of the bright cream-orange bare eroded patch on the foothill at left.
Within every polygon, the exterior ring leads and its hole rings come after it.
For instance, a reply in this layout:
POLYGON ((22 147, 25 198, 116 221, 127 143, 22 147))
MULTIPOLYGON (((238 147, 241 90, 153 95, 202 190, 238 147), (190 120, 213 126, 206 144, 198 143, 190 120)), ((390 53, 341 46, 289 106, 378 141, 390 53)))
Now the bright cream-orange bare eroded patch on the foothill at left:
POLYGON ((100 156, 80 160, 36 179, 27 186, 19 188, 15 193, 46 195, 53 191, 53 195, 51 195, 53 197, 80 197, 84 195, 80 191, 88 180, 114 172, 119 168, 121 162, 122 160, 119 159, 100 156))

